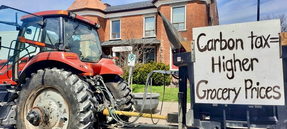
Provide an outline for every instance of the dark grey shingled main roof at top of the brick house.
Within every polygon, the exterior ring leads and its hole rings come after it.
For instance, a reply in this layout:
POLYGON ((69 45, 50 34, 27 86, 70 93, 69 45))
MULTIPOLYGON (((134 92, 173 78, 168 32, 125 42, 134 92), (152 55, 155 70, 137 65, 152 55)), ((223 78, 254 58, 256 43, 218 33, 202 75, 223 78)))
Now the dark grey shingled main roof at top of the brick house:
POLYGON ((113 12, 113 11, 138 9, 138 8, 148 8, 148 7, 155 7, 152 4, 152 0, 136 2, 136 3, 129 3, 129 4, 125 4, 125 5, 108 6, 104 11, 105 12, 113 12))

